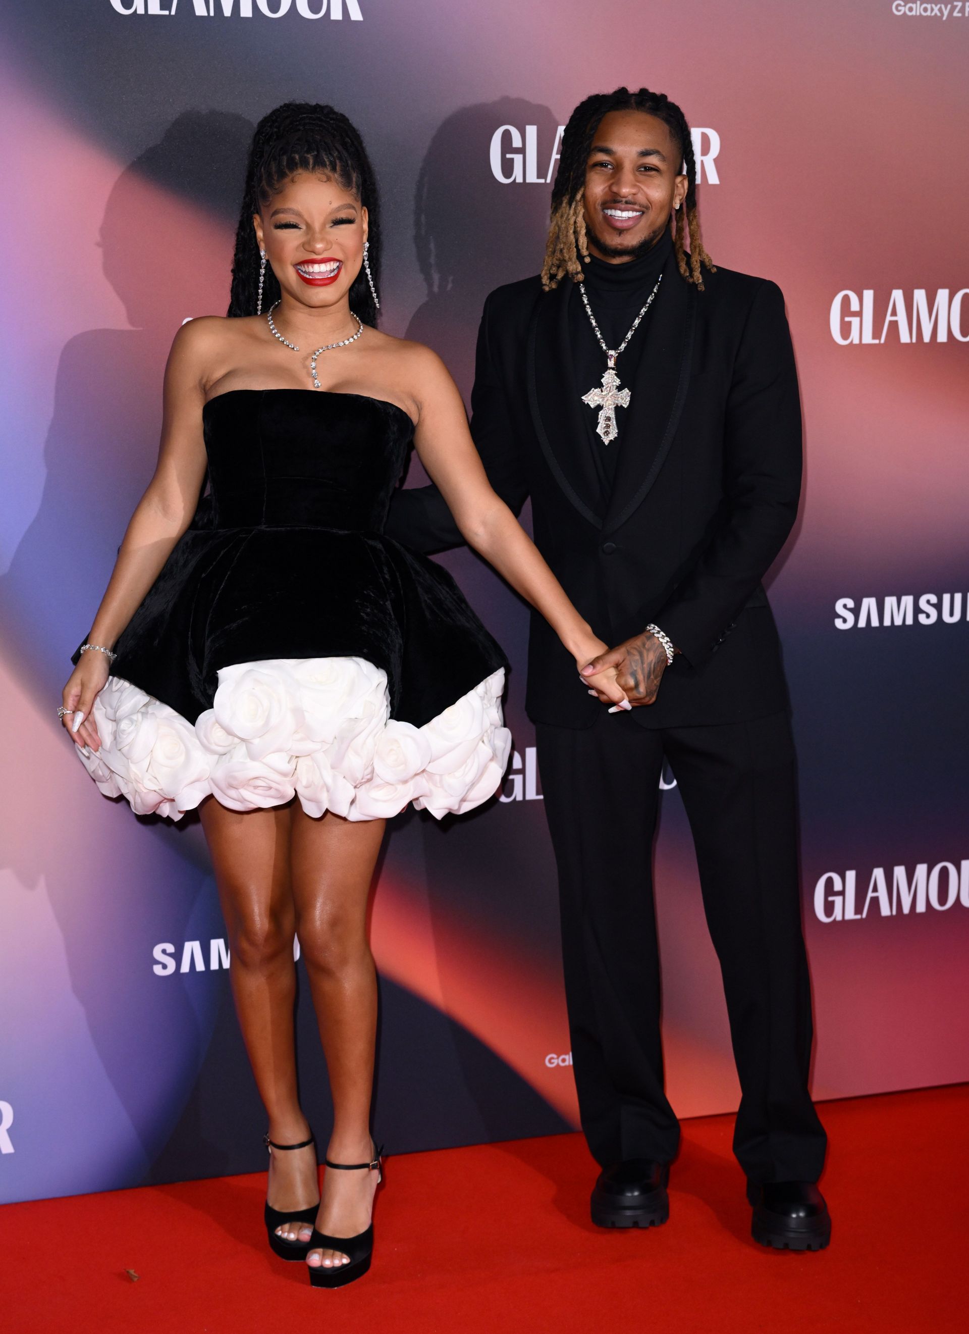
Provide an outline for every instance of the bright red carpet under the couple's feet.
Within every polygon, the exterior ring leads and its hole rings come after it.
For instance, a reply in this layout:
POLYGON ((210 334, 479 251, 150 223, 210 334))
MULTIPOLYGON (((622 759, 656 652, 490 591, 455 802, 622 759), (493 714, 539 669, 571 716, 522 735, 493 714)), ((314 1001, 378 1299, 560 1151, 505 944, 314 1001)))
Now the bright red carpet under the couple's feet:
POLYGON ((335 1293, 265 1247, 263 1175, 9 1205, 0 1329, 964 1334, 969 1086, 826 1103, 822 1117, 834 1233, 818 1254, 754 1245, 733 1118, 712 1117, 684 1125, 670 1221, 649 1231, 593 1229, 578 1135, 392 1158, 373 1267, 335 1293))

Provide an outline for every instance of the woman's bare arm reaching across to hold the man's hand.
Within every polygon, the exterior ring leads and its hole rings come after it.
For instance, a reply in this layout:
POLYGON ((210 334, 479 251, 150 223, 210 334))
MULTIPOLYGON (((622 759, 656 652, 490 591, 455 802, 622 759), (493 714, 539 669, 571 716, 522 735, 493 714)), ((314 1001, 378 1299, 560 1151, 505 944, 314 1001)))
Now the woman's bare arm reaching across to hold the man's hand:
MULTIPOLYGON (((601 648, 588 622, 578 615, 537 547, 504 500, 492 490, 468 430, 461 395, 444 363, 428 348, 415 350, 419 422, 415 447, 424 468, 444 496, 468 546, 502 575, 548 620, 562 644, 584 667, 601 648)), ((576 683, 581 688, 581 683, 576 683)), ((614 703, 625 704, 614 671, 588 678, 614 703)), ((588 688, 588 687, 586 687, 588 688)))

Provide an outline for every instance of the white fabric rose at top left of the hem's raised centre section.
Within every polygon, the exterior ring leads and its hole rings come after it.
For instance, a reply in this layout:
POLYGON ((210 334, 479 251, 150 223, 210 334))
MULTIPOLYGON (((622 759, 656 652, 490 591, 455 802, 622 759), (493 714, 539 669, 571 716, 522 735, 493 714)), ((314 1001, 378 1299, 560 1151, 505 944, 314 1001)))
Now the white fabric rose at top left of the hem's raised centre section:
POLYGON ((212 708, 219 726, 239 736, 253 760, 289 750, 304 720, 296 682, 279 662, 223 667, 212 708))

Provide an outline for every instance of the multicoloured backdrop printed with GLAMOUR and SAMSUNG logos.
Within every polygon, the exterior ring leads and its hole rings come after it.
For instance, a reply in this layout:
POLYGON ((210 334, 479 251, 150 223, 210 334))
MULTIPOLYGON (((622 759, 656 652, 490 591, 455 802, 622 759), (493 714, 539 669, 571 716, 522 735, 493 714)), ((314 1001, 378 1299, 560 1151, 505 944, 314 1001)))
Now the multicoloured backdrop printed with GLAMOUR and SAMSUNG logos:
MULTIPOLYGON (((801 763, 817 1098, 969 1079, 969 5, 892 0, 11 0, 0 16, 0 1198, 260 1169, 199 823, 99 795, 56 716, 148 482, 168 347, 224 313, 244 156, 287 99, 360 127, 384 328, 465 396, 481 304, 538 269, 592 91, 684 107, 706 247, 782 287, 806 428, 770 576, 801 763)), ((412 467, 408 484, 420 482, 412 467)), ((393 822, 372 938, 391 1151, 574 1127, 526 615, 443 558, 513 660, 500 799, 393 822)), ((669 1086, 738 1090, 676 775, 657 842, 669 1086)), ((303 1087, 329 1117, 301 988, 303 1087)))

